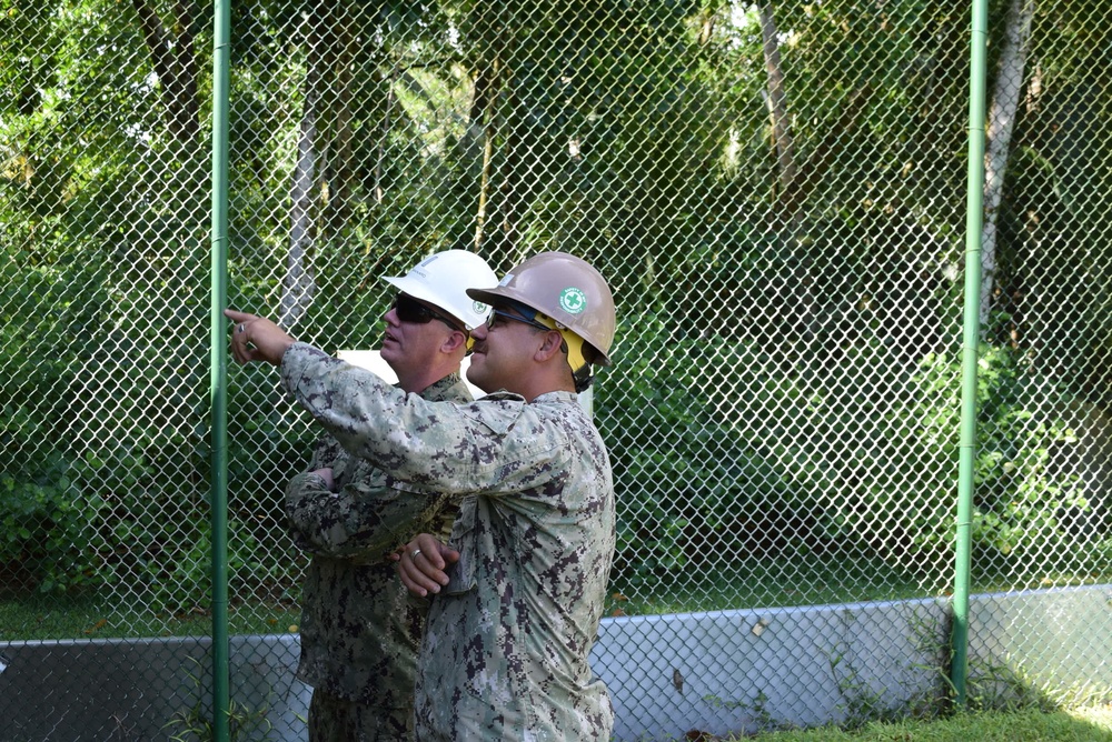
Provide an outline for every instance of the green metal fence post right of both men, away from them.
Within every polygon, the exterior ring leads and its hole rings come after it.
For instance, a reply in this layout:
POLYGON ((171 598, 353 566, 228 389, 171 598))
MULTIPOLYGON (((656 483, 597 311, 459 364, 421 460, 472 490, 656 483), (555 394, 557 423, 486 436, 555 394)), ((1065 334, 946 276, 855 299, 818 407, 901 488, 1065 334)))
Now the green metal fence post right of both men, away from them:
POLYGON ((965 307, 962 355, 961 458, 957 470, 957 528, 954 551, 954 631, 951 680, 956 703, 965 705, 969 673, 970 551, 973 520, 973 464, 976 453, 977 349, 981 328, 981 224, 984 197, 985 56, 987 1, 973 0, 970 32, 969 179, 965 211, 965 307))

